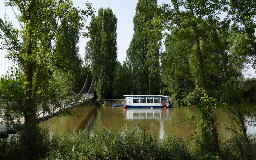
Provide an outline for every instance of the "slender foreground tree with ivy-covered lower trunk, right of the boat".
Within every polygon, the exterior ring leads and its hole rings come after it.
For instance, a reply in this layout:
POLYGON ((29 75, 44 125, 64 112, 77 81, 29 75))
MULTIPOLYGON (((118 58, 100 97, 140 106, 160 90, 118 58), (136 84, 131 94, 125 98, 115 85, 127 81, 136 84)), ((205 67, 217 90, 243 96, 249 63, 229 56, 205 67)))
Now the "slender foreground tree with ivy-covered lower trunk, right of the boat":
POLYGON ((207 41, 208 28, 205 28, 207 24, 202 15, 198 14, 196 4, 197 2, 191 0, 172 1, 173 8, 169 4, 164 4, 162 18, 166 28, 172 31, 178 29, 174 34, 180 37, 180 41, 186 39, 193 42, 192 46, 185 45, 190 50, 190 52, 186 52, 185 58, 187 57, 190 61, 189 70, 196 89, 202 92, 197 110, 201 112, 204 147, 218 152, 218 133, 215 124, 215 113, 213 111, 215 104, 214 99, 208 95, 208 91, 210 91, 209 86, 212 81, 210 78, 212 75, 210 72, 212 69, 212 53, 207 50, 210 46, 207 41))

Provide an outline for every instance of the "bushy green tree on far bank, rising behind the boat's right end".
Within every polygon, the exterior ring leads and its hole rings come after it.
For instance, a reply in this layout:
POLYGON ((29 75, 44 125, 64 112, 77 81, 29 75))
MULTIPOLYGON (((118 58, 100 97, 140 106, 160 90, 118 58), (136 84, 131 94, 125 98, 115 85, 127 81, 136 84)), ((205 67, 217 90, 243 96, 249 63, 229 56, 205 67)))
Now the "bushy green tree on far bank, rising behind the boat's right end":
MULTIPOLYGON (((180 100, 179 105, 188 105, 187 96, 192 93, 195 84, 189 65, 195 63, 195 58, 190 57, 193 40, 184 37, 190 29, 173 29, 165 41, 165 52, 161 56, 161 76, 165 88, 171 92, 174 100, 180 100), (183 36, 183 37, 181 37, 183 36), (186 44, 187 47, 183 45, 186 44), (170 65, 166 65, 170 64, 170 65)), ((196 100, 196 98, 195 98, 196 100)))

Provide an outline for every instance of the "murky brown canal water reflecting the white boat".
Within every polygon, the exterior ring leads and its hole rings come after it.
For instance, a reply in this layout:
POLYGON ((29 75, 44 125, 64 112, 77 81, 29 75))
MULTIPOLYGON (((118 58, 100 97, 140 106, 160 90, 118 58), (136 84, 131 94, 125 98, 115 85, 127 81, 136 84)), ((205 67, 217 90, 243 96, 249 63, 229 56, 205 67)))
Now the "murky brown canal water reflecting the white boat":
MULTIPOLYGON (((195 107, 173 107, 173 108, 122 108, 122 107, 95 107, 78 106, 71 109, 76 112, 75 116, 53 117, 40 123, 43 129, 49 129, 50 132, 68 133, 74 129, 91 130, 102 127, 119 129, 122 127, 136 128, 138 124, 144 126, 148 132, 153 132, 159 139, 166 135, 179 135, 187 138, 190 133, 200 132, 191 123, 193 115, 199 113, 195 107)), ((225 126, 231 127, 228 115, 222 109, 217 108, 218 130, 222 138, 227 139, 232 132, 225 126)), ((248 126, 248 133, 255 134, 256 128, 248 126)))

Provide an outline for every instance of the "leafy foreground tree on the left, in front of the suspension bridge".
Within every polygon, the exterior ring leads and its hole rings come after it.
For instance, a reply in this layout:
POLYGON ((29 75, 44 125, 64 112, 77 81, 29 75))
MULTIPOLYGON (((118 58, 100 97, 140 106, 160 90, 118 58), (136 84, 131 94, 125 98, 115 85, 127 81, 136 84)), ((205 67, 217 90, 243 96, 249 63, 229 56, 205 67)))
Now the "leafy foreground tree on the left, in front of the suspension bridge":
MULTIPOLYGON (((10 74, 1 78, 2 89, 10 102, 9 109, 25 118, 25 129, 22 134, 23 158, 36 159, 38 145, 37 104, 52 104, 60 107, 58 95, 49 86, 56 68, 57 53, 51 47, 56 36, 64 32, 63 28, 84 27, 86 18, 92 14, 91 5, 84 10, 76 10, 72 1, 26 1, 10 0, 6 4, 17 7, 20 12, 16 17, 21 30, 13 28, 11 23, 0 19, 0 37, 4 39, 4 47, 9 51, 8 58, 14 63, 23 65, 21 76, 10 74), (68 22, 68 23, 66 23, 68 22), (72 24, 72 27, 71 27, 72 24), (20 38, 24 39, 25 50, 20 38), (12 79, 20 83, 9 83, 12 79), (19 80, 20 79, 20 80, 19 80), (9 84, 8 84, 9 83, 9 84), (12 85, 12 89, 8 89, 12 85), (16 87, 14 87, 16 86, 16 87), (16 90, 17 89, 17 90, 16 90), (19 95, 13 97, 12 95, 19 95)), ((84 36, 87 36, 85 33, 84 36)))

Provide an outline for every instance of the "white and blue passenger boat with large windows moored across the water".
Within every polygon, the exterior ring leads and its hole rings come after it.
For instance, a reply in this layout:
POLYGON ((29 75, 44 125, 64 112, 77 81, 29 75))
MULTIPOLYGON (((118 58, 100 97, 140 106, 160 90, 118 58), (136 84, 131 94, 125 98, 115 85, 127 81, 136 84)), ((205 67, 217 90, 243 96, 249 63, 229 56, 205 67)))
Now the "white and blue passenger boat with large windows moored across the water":
POLYGON ((172 108, 169 96, 163 95, 124 95, 123 108, 172 108))

